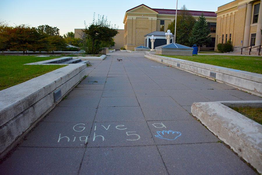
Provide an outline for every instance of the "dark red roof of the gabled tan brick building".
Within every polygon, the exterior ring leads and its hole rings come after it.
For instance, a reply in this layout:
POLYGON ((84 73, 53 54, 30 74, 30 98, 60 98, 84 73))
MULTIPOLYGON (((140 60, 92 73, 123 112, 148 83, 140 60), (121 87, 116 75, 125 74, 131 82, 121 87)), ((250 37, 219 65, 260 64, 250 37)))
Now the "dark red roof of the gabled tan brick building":
MULTIPOLYGON (((146 5, 141 4, 139 6, 146 6, 146 5)), ((134 8, 137 8, 139 6, 136 6, 134 8)), ((146 6, 146 7, 150 8, 148 6, 146 6)), ((127 10, 126 12, 128 12, 128 11, 134 9, 134 8, 131 8, 131 9, 127 10)), ((159 14, 168 14, 168 15, 175 15, 176 14, 176 10, 175 9, 162 9, 162 8, 150 8, 150 9, 156 11, 159 14)), ((178 14, 179 14, 179 11, 181 11, 181 10, 177 10, 177 11, 178 11, 178 14)), ((193 16, 200 16, 202 13, 204 14, 204 16, 212 16, 212 17, 216 17, 217 16, 217 14, 215 12, 210 12, 210 11, 197 11, 197 10, 188 10, 188 11, 193 16)))

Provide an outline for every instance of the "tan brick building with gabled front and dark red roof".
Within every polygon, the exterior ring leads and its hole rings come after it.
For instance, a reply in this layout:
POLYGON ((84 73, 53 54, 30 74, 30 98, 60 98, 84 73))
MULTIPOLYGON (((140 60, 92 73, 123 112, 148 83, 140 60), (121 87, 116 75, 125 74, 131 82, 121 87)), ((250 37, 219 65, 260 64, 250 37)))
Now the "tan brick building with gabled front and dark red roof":
MULTIPOLYGON (((179 12, 179 10, 178 10, 179 12)), ((215 47, 216 14, 215 12, 189 10, 198 19, 204 14, 211 29, 212 43, 204 46, 207 50, 215 47)), ((124 23, 124 46, 127 50, 134 50, 137 46, 144 46, 144 36, 153 31, 167 31, 168 24, 175 20, 176 10, 150 8, 144 4, 127 10, 124 23)), ((202 50, 204 50, 202 48, 202 50)))

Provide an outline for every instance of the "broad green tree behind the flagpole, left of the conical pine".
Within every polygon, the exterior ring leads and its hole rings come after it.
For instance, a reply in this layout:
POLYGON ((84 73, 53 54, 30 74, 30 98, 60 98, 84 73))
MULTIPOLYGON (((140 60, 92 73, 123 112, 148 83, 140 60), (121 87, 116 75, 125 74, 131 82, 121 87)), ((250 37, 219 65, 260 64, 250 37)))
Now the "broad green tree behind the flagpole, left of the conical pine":
MULTIPOLYGON (((176 22, 176 43, 190 46, 189 38, 196 20, 183 5, 178 11, 176 22)), ((175 20, 168 25, 168 29, 175 33, 175 20)))

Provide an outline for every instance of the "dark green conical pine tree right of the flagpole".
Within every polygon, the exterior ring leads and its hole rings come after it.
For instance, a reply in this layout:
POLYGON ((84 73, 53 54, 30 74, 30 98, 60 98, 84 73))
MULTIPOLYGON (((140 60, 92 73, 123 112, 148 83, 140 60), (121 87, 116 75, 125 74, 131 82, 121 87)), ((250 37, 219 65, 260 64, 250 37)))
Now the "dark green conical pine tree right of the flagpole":
MULTIPOLYGON (((199 16, 199 20, 194 24, 192 35, 189 38, 189 41, 192 44, 197 44, 200 48, 200 45, 209 44, 211 42, 210 29, 208 28, 208 24, 206 22, 206 18, 203 13, 199 16)), ((199 49, 198 48, 198 52, 199 49)))

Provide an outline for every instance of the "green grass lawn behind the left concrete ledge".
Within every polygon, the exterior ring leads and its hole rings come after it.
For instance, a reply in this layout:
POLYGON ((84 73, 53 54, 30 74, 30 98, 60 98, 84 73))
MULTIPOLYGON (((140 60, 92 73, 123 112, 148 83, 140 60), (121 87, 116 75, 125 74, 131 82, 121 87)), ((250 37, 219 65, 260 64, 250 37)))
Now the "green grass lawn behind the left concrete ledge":
POLYGON ((23 83, 64 65, 23 65, 56 57, 0 55, 0 90, 23 83))

